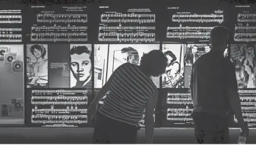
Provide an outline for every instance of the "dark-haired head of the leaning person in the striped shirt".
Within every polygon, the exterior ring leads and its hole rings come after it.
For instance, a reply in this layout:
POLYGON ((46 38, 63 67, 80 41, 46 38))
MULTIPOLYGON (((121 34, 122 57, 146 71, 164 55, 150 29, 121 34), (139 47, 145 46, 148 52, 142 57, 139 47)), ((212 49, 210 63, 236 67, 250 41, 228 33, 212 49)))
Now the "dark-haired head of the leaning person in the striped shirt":
POLYGON ((168 59, 161 50, 152 50, 148 54, 143 54, 140 65, 153 77, 164 74, 168 65, 168 59))

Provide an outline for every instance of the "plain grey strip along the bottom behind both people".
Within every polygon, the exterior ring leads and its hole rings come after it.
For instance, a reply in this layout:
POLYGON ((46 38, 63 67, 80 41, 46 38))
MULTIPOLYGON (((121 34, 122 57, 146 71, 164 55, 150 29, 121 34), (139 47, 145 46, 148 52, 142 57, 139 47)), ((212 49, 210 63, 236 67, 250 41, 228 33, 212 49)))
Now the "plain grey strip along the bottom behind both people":
MULTIPOLYGON (((55 144, 91 143, 92 128, 1 128, 0 143, 55 144)), ((155 128, 154 143, 193 144, 193 128, 155 128)), ((239 129, 231 129, 231 143, 237 144, 239 129)), ((139 130, 137 143, 145 143, 145 130, 139 130)), ((250 130, 248 144, 256 143, 256 130, 250 130)))

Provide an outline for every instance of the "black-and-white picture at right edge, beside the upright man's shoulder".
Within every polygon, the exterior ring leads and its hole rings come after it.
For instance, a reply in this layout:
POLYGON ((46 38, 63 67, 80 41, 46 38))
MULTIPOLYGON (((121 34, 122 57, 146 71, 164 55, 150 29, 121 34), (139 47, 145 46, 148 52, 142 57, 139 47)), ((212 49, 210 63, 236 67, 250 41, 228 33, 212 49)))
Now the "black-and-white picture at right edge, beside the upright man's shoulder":
POLYGON ((231 61, 235 64, 238 88, 256 88, 255 48, 255 44, 231 45, 231 61))

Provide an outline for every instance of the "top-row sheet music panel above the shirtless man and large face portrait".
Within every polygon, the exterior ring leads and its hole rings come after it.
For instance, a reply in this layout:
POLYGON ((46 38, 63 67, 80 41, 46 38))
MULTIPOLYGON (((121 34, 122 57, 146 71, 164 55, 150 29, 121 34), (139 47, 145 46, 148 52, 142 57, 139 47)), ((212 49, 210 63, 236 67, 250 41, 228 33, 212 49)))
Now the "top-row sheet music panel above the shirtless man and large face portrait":
POLYGON ((88 41, 87 6, 31 6, 32 42, 88 41))

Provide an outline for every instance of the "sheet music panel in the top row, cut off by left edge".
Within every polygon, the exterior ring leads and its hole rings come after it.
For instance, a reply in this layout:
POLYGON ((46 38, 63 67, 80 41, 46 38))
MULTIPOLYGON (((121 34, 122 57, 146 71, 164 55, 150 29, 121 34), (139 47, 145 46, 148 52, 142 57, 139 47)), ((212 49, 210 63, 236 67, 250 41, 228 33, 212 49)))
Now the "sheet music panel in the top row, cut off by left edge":
POLYGON ((21 8, 0 10, 0 42, 22 42, 21 8))

